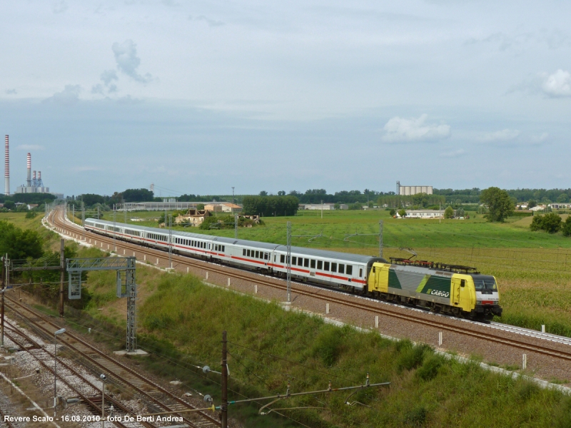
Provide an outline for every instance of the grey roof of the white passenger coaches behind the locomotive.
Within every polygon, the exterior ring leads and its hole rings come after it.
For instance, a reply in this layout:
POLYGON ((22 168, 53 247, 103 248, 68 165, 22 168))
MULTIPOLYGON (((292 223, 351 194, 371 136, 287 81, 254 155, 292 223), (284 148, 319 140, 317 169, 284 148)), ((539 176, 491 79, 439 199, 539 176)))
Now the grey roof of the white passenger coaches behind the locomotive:
MULTIPOLYGON (((112 221, 108 220, 97 220, 96 218, 86 218, 87 220, 91 220, 92 222, 97 222, 106 225, 113 225, 116 226, 127 226, 129 228, 138 229, 138 230, 146 230, 147 232, 151 233, 163 233, 168 235, 168 230, 160 229, 160 228, 149 228, 147 226, 139 226, 139 225, 130 225, 125 223, 113 223, 112 221)), ((192 233, 192 232, 183 232, 181 230, 173 230, 173 235, 176 236, 186 236, 188 238, 197 238, 197 239, 206 239, 212 240, 217 243, 227 243, 232 245, 243 245, 249 247, 257 247, 262 248, 263 250, 276 250, 281 251, 283 253, 288 251, 288 247, 286 245, 281 244, 274 244, 274 243, 262 243, 259 241, 252 241, 252 240, 245 240, 245 239, 236 239, 236 238, 227 238, 226 236, 215 236, 215 235, 205 235, 202 233, 192 233)), ((302 254, 307 255, 308 257, 322 257, 322 258, 335 258, 340 260, 347 260, 349 262, 354 263, 369 263, 371 260, 379 261, 381 263, 388 263, 383 258, 373 257, 371 255, 362 255, 362 254, 355 254, 355 253, 343 253, 340 251, 329 251, 329 250, 318 250, 315 248, 306 248, 306 247, 291 247, 292 253, 295 254, 302 254)))

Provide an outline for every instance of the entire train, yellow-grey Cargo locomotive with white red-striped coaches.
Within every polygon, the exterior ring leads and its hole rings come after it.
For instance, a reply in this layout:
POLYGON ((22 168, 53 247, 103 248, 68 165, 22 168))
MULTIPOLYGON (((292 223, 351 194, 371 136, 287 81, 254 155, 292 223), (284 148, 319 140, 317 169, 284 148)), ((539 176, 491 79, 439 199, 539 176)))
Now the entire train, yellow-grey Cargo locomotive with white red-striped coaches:
MULTIPOLYGON (((88 218, 85 228, 138 245, 285 277, 285 245, 201 235, 88 218)), ((502 315, 495 277, 473 268, 291 247, 296 280, 358 292, 435 312, 490 319, 502 315)))

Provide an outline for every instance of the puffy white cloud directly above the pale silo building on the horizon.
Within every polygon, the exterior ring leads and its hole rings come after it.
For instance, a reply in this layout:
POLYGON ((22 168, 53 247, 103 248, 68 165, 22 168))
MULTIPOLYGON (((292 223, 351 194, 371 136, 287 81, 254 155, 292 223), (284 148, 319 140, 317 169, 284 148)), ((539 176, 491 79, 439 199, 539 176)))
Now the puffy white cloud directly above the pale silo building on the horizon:
POLYGON ((450 136, 450 125, 436 125, 425 123, 427 114, 420 115, 418 119, 405 119, 394 117, 390 119, 383 130, 383 141, 423 141, 441 140, 450 136))

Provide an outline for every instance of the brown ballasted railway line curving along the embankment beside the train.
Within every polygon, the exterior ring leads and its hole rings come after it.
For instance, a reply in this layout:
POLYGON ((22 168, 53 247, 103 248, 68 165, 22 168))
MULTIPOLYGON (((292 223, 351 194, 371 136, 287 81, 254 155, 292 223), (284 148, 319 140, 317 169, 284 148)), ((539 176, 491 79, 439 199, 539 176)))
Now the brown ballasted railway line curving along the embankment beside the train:
MULTIPOLYGON (((59 233, 68 235, 76 240, 83 240, 85 243, 95 245, 102 250, 111 250, 113 248, 112 238, 86 232, 79 225, 75 225, 69 222, 69 220, 64 220, 61 210, 52 212, 48 220, 59 233)), ((118 255, 136 255, 139 260, 143 258, 147 263, 152 262, 151 264, 157 267, 168 267, 169 256, 164 251, 134 245, 121 240, 116 240, 115 243, 118 255)), ((206 275, 206 272, 211 272, 212 275, 217 275, 219 278, 232 278, 232 280, 237 282, 241 281, 250 285, 270 287, 277 292, 283 292, 283 296, 285 296, 285 281, 276 277, 238 270, 234 267, 208 263, 181 255, 173 254, 171 255, 171 260, 178 270, 184 271, 184 267, 186 267, 186 272, 193 270, 195 273, 202 272, 202 275, 206 275)), ((509 347, 514 355, 520 355, 519 358, 521 358, 522 352, 535 353, 547 358, 547 360, 564 363, 565 367, 569 363, 569 366, 562 370, 571 373, 571 339, 567 337, 550 335, 497 322, 483 324, 482 322, 474 322, 463 318, 429 313, 418 308, 405 307, 336 290, 325 290, 322 287, 298 282, 292 282, 292 293, 300 297, 307 297, 310 300, 319 300, 323 303, 330 303, 330 305, 344 307, 345 310, 389 317, 396 322, 411 323, 419 328, 428 327, 432 329, 430 330, 431 332, 448 332, 452 335, 465 337, 465 340, 483 340, 498 347, 509 347)), ((546 361, 545 358, 542 359, 542 362, 546 361)))

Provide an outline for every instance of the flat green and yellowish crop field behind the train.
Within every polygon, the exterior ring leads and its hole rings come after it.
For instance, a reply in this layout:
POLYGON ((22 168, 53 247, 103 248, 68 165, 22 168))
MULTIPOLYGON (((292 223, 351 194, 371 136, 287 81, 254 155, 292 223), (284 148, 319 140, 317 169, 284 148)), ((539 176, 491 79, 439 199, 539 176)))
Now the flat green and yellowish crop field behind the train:
MULTIPOLYGON (((531 232, 532 218, 487 223, 469 213, 466 220, 393 219, 388 211, 301 211, 295 217, 263 218, 266 225, 241 228, 238 237, 271 243, 286 242, 292 223, 292 244, 304 247, 378 255, 379 220, 383 220, 383 256, 433 260, 477 267, 495 275, 504 314, 501 321, 571 336, 571 238, 531 232), (304 235, 295 237, 295 235, 304 235)), ((128 213, 157 227, 159 212, 128 213)), ((562 216, 564 219, 566 215, 562 216)), ((112 220, 113 214, 106 213, 112 220)), ((118 222, 123 213, 116 214, 118 222)), ((79 223, 79 220, 78 220, 79 223)), ((181 228, 193 233, 233 237, 234 230, 181 228)))

